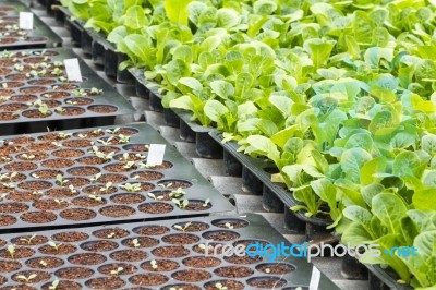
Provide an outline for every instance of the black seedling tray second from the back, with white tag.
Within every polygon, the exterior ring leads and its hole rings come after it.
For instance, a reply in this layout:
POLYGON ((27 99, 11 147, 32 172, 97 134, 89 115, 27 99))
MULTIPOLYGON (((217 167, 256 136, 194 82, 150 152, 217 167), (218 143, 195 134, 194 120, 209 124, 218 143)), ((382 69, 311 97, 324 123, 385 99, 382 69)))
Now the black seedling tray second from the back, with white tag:
POLYGON ((81 59, 83 82, 66 81, 63 60, 71 58, 78 57, 63 48, 2 53, 0 134, 110 125, 116 116, 134 112, 132 105, 81 59), (38 116, 39 101, 49 110, 38 116), (37 114, 25 117, 26 111, 37 114))

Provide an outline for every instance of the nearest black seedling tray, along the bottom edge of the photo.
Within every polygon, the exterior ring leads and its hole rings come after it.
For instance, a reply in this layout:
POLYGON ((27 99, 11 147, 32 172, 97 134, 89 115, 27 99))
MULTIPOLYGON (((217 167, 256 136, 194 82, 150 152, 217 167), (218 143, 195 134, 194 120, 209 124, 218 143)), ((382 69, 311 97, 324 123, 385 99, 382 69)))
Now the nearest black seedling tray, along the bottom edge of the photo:
MULTIPOLYGON (((0 235, 0 282, 15 289, 49 289, 53 282, 56 289, 71 290, 215 290, 218 283, 231 290, 259 289, 255 282, 261 289, 308 289, 313 265, 303 257, 271 262, 263 256, 206 256, 202 250, 208 242, 290 246, 284 241, 252 214, 0 235), (13 258, 8 251, 12 244, 13 258)), ((318 289, 339 288, 322 274, 318 289)))

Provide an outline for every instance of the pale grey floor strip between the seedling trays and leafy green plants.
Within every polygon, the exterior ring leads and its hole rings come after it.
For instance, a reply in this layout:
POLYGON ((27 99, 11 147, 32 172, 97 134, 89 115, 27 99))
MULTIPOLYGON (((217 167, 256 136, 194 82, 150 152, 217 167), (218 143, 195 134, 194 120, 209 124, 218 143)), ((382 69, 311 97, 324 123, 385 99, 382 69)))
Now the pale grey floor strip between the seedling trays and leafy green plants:
MULTIPOLYGON (((72 47, 70 33, 47 12, 39 9, 37 4, 33 8, 35 14, 39 15, 59 36, 63 39, 63 47, 72 47)), ((75 53, 81 56, 85 62, 93 68, 98 75, 113 85, 125 98, 128 98, 136 108, 136 113, 129 117, 118 117, 117 124, 126 124, 138 121, 146 121, 154 126, 160 134, 168 140, 186 159, 189 159, 197 170, 207 178, 214 186, 227 196, 235 206, 233 215, 244 215, 244 213, 255 213, 264 216, 270 225, 276 228, 291 243, 302 243, 304 235, 289 234, 286 229, 283 213, 267 213, 262 206, 262 196, 252 195, 242 190, 242 179, 228 177, 223 171, 222 160, 199 158, 195 153, 195 145, 180 140, 179 130, 166 125, 164 114, 148 109, 148 100, 135 96, 133 85, 119 84, 108 78, 101 68, 96 67, 89 56, 85 56, 80 48, 73 48, 75 53)), ((368 288, 366 280, 347 280, 341 275, 341 259, 331 257, 319 257, 313 261, 313 264, 330 278, 341 289, 363 290, 368 288)))

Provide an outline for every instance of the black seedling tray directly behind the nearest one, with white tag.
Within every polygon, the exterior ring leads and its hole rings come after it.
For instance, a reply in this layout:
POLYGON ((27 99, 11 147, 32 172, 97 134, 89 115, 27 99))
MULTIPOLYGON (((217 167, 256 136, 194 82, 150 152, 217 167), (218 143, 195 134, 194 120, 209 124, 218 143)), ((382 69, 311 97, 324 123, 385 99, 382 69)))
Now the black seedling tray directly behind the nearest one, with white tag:
POLYGON ((232 209, 149 125, 110 132, 114 129, 5 137, 0 147, 0 232, 232 209), (162 166, 145 166, 148 144, 167 145, 162 166))

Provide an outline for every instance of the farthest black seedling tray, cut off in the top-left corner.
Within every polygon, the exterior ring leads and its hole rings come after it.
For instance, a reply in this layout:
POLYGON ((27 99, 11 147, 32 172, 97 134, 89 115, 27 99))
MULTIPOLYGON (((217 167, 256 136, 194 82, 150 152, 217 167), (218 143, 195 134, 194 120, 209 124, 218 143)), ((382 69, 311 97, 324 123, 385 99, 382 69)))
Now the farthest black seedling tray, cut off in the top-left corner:
POLYGON ((45 48, 62 45, 62 39, 37 15, 34 15, 33 31, 15 29, 19 25, 20 12, 31 11, 19 0, 0 2, 0 20, 2 21, 0 23, 0 49, 45 48), (23 35, 19 33, 23 33, 23 35))

